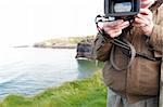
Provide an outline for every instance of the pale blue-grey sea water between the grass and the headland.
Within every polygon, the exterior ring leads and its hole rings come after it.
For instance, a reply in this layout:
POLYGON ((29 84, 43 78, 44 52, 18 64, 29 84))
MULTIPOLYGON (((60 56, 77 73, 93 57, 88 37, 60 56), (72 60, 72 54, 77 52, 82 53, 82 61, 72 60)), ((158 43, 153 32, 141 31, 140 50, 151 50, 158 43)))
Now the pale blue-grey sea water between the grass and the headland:
POLYGON ((34 95, 101 69, 95 61, 75 59, 75 49, 2 48, 0 53, 0 98, 34 95))

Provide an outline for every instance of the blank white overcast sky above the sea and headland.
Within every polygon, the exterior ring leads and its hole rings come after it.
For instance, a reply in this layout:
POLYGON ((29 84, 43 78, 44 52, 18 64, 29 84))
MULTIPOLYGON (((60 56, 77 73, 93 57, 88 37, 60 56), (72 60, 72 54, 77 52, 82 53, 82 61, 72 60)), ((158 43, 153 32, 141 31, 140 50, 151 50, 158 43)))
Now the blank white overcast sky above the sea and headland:
POLYGON ((0 45, 96 35, 103 0, 0 0, 0 45))

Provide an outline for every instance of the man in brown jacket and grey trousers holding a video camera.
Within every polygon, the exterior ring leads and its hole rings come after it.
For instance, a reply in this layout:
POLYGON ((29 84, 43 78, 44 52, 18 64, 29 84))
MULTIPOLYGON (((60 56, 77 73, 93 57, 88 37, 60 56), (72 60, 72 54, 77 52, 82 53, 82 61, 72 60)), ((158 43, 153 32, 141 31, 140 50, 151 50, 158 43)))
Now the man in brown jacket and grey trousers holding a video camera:
MULTIPOLYGON (((162 0, 141 0, 141 9, 135 17, 133 28, 126 35, 136 52, 154 59, 136 56, 126 69, 117 70, 111 59, 114 46, 114 62, 120 67, 128 65, 128 52, 110 42, 101 35, 95 40, 97 59, 105 62, 102 70, 104 83, 109 86, 108 107, 158 107, 161 57, 163 56, 163 5, 162 0)), ((129 22, 117 19, 103 25, 110 38, 123 34, 129 22)))

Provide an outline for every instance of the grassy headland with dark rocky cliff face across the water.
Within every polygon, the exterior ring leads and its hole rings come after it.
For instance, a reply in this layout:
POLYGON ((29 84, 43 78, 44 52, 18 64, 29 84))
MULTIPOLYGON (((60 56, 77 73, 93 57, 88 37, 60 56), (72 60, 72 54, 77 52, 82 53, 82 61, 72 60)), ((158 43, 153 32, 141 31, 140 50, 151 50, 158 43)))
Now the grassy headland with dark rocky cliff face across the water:
POLYGON ((76 58, 83 57, 88 59, 95 59, 93 38, 95 36, 53 39, 53 40, 47 40, 47 41, 35 43, 33 46, 52 48, 52 49, 75 49, 76 48, 76 56, 75 56, 76 58))

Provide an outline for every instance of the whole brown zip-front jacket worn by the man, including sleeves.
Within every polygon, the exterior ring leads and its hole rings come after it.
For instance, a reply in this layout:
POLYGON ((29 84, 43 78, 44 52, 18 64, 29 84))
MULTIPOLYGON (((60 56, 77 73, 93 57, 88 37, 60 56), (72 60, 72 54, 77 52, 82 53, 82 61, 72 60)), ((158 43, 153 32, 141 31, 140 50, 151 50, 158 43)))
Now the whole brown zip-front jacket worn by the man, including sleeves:
MULTIPOLYGON (((163 5, 152 9, 154 28, 147 43, 147 37, 139 28, 133 28, 127 40, 135 46, 137 52, 150 56, 162 57, 163 55, 163 5), (149 45, 154 49, 152 51, 149 45)), ((97 59, 105 62, 102 70, 104 83, 120 95, 126 97, 129 103, 149 98, 159 94, 159 73, 161 62, 153 62, 142 57, 136 57, 129 68, 117 71, 109 61, 112 44, 98 35, 95 40, 97 59)), ((125 50, 116 48, 115 62, 120 67, 126 66, 128 56, 125 50)))

